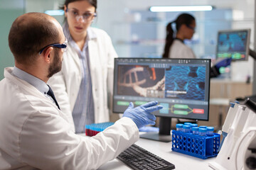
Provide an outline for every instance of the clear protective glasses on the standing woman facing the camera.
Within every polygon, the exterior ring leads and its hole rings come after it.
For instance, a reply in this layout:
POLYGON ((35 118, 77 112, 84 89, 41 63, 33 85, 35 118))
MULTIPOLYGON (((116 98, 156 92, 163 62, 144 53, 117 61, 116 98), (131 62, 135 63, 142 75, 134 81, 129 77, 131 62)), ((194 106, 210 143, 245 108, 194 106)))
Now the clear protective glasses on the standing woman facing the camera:
POLYGON ((92 13, 90 11, 82 13, 82 15, 79 15, 79 11, 75 8, 67 8, 66 12, 68 13, 68 16, 71 18, 75 18, 76 21, 80 21, 80 18, 82 18, 82 23, 90 22, 97 16, 97 13, 92 13))

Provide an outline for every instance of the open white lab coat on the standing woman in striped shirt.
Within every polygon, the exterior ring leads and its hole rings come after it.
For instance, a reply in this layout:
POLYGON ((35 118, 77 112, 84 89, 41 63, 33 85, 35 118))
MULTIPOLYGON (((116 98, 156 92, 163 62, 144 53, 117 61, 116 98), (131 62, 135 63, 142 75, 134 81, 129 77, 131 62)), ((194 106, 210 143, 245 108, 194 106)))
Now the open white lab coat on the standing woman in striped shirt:
MULTIPOLYGON (((114 50, 110 36, 104 30, 90 28, 97 38, 89 40, 90 72, 92 96, 95 105, 95 123, 110 120, 112 106, 114 50)), ((62 69, 48 81, 53 89, 61 111, 72 118, 72 111, 82 80, 81 64, 78 53, 71 45, 63 54, 62 69)), ((69 120, 73 123, 73 119, 69 120)))

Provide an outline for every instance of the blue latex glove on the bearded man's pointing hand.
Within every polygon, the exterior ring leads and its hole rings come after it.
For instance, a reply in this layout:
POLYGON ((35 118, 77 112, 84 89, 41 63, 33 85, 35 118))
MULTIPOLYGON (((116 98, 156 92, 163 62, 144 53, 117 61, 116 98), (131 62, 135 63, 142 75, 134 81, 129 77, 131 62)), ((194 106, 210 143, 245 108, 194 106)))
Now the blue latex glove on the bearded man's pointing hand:
POLYGON ((156 106, 157 101, 151 101, 142 106, 134 108, 133 103, 129 103, 129 107, 124 111, 123 117, 131 118, 138 128, 142 128, 144 125, 154 125, 156 116, 151 112, 158 111, 163 106, 156 106))

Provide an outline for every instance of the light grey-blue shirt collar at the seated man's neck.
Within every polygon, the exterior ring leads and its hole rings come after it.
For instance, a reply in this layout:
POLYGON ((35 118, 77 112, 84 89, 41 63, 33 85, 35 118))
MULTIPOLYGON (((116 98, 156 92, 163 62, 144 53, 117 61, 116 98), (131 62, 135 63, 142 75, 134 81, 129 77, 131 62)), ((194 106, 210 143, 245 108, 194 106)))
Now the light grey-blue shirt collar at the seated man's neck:
POLYGON ((42 94, 47 94, 49 91, 49 87, 44 81, 32 76, 31 74, 28 74, 27 72, 24 72, 21 69, 18 69, 17 67, 14 67, 13 74, 15 77, 27 81, 32 86, 36 87, 36 89, 38 89, 38 91, 40 91, 42 94))

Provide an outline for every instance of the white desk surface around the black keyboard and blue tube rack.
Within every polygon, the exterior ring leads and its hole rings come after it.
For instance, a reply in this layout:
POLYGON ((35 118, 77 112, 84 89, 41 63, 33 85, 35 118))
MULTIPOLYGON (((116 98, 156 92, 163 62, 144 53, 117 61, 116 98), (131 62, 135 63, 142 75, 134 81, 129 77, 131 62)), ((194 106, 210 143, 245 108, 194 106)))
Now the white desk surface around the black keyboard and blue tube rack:
MULTIPOLYGON (((209 162, 214 162, 216 157, 208 159, 199 159, 196 157, 191 157, 186 154, 181 154, 178 152, 171 151, 171 142, 157 142, 154 140, 146 140, 140 138, 138 142, 135 143, 144 149, 147 149, 149 152, 156 154, 157 156, 166 159, 166 161, 171 162, 175 165, 177 170, 184 169, 197 169, 197 170, 207 170, 211 169, 208 166, 209 162)), ((106 164, 100 166, 99 169, 104 170, 113 170, 113 169, 130 169, 129 166, 125 165, 118 159, 113 159, 106 164)), ((211 169, 212 170, 212 169, 211 169)))

